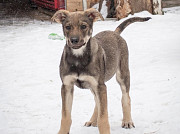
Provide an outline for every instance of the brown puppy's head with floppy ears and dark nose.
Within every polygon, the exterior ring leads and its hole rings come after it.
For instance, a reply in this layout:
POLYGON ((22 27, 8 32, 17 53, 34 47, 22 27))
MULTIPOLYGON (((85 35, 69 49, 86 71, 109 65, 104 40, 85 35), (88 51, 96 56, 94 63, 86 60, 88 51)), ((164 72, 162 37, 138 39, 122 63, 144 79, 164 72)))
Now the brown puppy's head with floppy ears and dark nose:
POLYGON ((62 24, 67 45, 72 49, 79 49, 86 45, 92 36, 93 22, 99 18, 103 20, 102 15, 92 8, 83 12, 59 10, 52 17, 62 24))

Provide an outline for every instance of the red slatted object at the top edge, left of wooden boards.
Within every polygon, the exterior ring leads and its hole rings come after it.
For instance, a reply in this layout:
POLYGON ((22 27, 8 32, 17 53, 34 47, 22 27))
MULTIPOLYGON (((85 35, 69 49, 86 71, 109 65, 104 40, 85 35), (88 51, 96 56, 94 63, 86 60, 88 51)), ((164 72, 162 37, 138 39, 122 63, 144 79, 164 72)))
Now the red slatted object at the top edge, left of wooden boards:
POLYGON ((65 9, 64 0, 32 0, 37 6, 51 10, 65 9))

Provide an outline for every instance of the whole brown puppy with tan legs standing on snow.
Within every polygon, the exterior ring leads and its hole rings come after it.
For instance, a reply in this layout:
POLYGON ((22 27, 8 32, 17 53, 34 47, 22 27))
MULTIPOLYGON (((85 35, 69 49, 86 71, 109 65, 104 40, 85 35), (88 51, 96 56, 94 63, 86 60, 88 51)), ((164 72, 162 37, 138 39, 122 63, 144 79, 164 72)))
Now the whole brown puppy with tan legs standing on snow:
POLYGON ((98 18, 103 19, 95 9, 72 13, 59 10, 52 18, 62 24, 66 37, 60 63, 62 119, 59 134, 69 134, 70 131, 74 85, 89 88, 94 94, 96 106, 85 126, 98 126, 100 134, 110 134, 105 82, 115 73, 122 90, 122 127, 134 127, 129 97, 128 48, 119 34, 129 24, 150 18, 131 18, 115 31, 103 31, 92 37, 93 22, 98 18))

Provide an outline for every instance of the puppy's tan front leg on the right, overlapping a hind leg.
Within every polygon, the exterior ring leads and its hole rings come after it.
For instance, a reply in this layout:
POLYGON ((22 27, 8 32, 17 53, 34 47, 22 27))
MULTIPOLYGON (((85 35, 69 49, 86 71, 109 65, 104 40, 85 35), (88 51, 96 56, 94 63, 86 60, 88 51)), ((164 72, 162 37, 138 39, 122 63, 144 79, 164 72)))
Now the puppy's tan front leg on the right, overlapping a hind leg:
POLYGON ((108 121, 107 110, 107 90, 106 85, 99 85, 93 89, 96 97, 96 104, 98 108, 97 125, 100 134, 110 134, 110 126, 108 121))

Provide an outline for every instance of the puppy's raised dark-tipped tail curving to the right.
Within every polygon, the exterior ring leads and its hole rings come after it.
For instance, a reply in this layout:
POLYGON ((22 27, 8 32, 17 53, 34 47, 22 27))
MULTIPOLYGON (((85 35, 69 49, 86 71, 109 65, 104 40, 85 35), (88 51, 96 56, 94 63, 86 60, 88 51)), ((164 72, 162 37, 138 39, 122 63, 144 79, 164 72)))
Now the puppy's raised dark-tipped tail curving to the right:
POLYGON ((148 21, 149 19, 151 19, 151 17, 146 17, 146 18, 133 17, 133 18, 127 19, 116 28, 115 32, 118 34, 121 34, 122 31, 131 23, 144 22, 144 21, 148 21))

